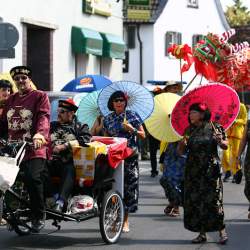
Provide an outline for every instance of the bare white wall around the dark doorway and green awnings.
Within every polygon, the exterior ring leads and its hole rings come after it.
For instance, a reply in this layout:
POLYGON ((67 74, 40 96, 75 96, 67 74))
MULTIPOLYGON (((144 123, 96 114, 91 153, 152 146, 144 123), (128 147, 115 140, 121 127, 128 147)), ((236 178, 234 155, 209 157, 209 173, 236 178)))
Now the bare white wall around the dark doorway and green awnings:
MULTIPOLYGON (((82 12, 82 0, 0 0, 0 17, 15 25, 20 39, 15 47, 16 58, 4 59, 2 71, 22 64, 21 18, 44 22, 57 27, 53 36, 53 88, 61 87, 75 77, 75 55, 71 52, 71 27, 78 26, 122 37, 122 1, 110 1, 112 16, 109 18, 87 15, 82 12)), ((93 57, 90 55, 90 57, 93 57)), ((94 59, 89 60, 88 72, 93 73, 94 59)), ((0 64, 1 65, 1 64, 0 64)), ((109 76, 122 79, 122 60, 112 60, 109 76)))

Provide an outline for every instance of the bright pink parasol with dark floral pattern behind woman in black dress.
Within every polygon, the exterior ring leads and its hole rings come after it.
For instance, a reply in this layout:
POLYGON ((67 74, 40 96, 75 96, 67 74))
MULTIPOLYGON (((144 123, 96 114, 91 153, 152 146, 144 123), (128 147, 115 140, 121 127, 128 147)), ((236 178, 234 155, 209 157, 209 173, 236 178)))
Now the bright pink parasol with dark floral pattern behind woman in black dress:
POLYGON ((189 126, 189 107, 194 103, 204 103, 211 112, 211 121, 217 122, 227 129, 236 119, 240 100, 231 87, 221 83, 209 83, 192 89, 176 103, 171 124, 176 133, 183 136, 189 126))

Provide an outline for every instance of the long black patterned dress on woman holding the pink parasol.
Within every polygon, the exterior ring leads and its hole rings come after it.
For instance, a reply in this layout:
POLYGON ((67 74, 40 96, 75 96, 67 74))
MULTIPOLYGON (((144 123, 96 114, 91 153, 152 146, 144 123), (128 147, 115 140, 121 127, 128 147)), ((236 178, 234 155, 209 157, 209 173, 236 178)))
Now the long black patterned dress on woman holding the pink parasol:
MULTIPOLYGON (((223 128, 215 125, 226 138, 223 128)), ((184 227, 193 232, 222 230, 223 190, 217 142, 211 124, 189 127, 184 174, 184 227)))

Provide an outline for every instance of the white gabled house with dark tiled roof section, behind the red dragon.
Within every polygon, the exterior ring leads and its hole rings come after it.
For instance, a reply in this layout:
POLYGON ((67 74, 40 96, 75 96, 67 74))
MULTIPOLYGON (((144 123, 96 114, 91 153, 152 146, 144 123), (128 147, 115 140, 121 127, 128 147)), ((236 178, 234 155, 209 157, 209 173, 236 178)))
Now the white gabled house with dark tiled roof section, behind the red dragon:
MULTIPOLYGON (((181 79, 179 60, 167 53, 171 44, 192 46, 208 32, 229 29, 219 0, 127 0, 123 11, 128 47, 123 78, 143 84, 181 79)), ((194 75, 192 67, 183 81, 190 82, 194 75)))

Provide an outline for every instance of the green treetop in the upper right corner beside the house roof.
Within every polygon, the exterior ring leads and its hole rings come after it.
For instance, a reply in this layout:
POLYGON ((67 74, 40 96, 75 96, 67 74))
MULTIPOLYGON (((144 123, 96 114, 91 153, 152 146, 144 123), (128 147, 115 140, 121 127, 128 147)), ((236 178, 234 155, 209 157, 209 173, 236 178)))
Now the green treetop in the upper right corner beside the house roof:
POLYGON ((234 0, 234 5, 227 8, 225 15, 231 27, 250 25, 250 11, 241 0, 234 0))

